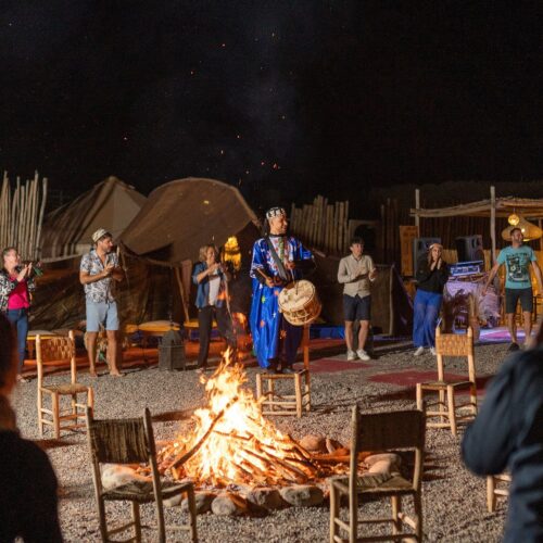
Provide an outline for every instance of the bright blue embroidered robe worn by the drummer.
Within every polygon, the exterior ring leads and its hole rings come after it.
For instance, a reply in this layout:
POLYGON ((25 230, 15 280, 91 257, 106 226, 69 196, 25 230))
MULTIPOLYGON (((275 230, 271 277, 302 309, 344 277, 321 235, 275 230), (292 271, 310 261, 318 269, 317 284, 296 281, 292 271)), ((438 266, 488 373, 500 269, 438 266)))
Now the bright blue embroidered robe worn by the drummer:
MULTIPOLYGON (((295 238, 285 236, 283 240, 286 261, 295 262, 313 258, 311 251, 305 249, 295 238)), ((279 254, 279 251, 277 253, 279 254)), ((253 337, 253 350, 258 364, 263 368, 269 367, 272 358, 279 357, 288 365, 291 365, 296 357, 296 351, 302 340, 303 327, 291 325, 279 313, 279 293, 283 287, 269 288, 267 285, 262 285, 256 278, 260 276, 256 268, 261 268, 270 278, 280 275, 266 238, 262 238, 254 243, 253 260, 251 263, 253 300, 249 320, 253 337), (279 352, 281 332, 283 334, 283 353, 279 352)), ((288 273, 290 274, 289 270, 288 273)), ((295 280, 302 279, 302 274, 299 269, 293 269, 292 273, 295 280)))

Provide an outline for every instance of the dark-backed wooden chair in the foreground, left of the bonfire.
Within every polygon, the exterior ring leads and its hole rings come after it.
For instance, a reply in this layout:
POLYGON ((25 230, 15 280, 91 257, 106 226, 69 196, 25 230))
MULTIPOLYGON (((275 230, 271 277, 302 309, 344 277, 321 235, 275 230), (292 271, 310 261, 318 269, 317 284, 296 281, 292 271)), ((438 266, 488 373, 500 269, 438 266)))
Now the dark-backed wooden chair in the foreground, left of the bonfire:
POLYGON ((94 420, 91 409, 87 409, 87 430, 102 541, 113 541, 110 539, 112 535, 134 528, 134 536, 123 541, 140 542, 142 528, 140 504, 153 502, 156 507, 159 530, 157 538, 153 538, 153 541, 160 541, 161 543, 165 542, 166 528, 188 531, 191 541, 198 541, 194 489, 191 482, 165 483, 161 481, 156 466, 156 449, 149 409, 146 409, 142 418, 103 420, 94 420), (103 489, 100 472, 101 464, 140 463, 149 464, 151 480, 131 482, 112 490, 103 489), (185 526, 166 527, 164 523, 163 500, 179 493, 187 493, 188 496, 189 523, 185 526), (108 529, 105 502, 109 501, 130 502, 131 521, 116 528, 108 529))

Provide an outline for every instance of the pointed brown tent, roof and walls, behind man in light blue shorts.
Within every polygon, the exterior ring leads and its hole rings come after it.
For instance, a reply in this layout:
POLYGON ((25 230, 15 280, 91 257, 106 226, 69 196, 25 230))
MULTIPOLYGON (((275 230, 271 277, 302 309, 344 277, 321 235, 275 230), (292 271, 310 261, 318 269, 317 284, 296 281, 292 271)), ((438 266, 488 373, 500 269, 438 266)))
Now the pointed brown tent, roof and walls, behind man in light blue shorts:
MULTIPOLYGON (((31 328, 54 330, 79 326, 85 319, 80 255, 89 251, 92 232, 100 227, 118 237, 144 201, 146 197, 132 187, 109 177, 46 217, 41 251, 45 274, 35 293, 31 328)), ((129 258, 124 265, 127 279, 117 289, 122 320, 139 323, 164 318, 172 288, 167 274, 129 258), (153 278, 152 285, 150 278, 153 278)))

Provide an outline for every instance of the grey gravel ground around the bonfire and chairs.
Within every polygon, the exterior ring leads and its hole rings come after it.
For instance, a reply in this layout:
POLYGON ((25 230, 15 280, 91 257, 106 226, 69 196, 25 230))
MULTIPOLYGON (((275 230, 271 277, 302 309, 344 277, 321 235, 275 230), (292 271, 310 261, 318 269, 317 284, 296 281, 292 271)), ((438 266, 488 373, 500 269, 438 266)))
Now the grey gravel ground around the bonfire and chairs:
MULTIPOLYGON (((504 344, 476 348, 478 376, 491 376, 506 355, 504 344)), ((370 367, 332 374, 313 374, 313 411, 301 419, 276 417, 281 431, 294 439, 306 434, 324 434, 342 443, 350 441, 351 407, 358 402, 363 411, 378 412, 413 407, 413 389, 368 382, 367 377, 402 369, 434 369, 430 355, 413 356, 406 344, 377 350, 378 359, 370 367)), ((338 356, 338 358, 343 356, 338 356)), ((452 361, 447 370, 463 370, 463 365, 452 361)), ((255 368, 248 370, 248 387, 255 388, 255 368)), ((56 378, 53 378, 53 380, 56 378)), ((91 382, 88 375, 81 382, 91 382)), ((96 393, 96 417, 141 416, 147 406, 153 415, 191 411, 203 400, 203 387, 194 371, 167 372, 156 368, 134 370, 125 378, 102 376, 92 380, 96 393)), ((22 383, 13 394, 18 427, 25 438, 38 440, 36 422, 36 381, 22 383)), ((182 418, 182 417, 181 417, 182 418)), ((157 440, 168 439, 177 431, 187 430, 188 420, 166 421, 155 425, 157 440)), ((462 429, 460 429, 462 434, 462 429)), ((487 513, 485 482, 470 475, 459 459, 460 438, 449 431, 429 429, 427 432, 427 473, 422 484, 424 531, 428 541, 494 542, 500 541, 505 520, 505 506, 487 513)), ((40 442, 47 450, 59 477, 61 487, 60 515, 66 541, 99 541, 98 517, 93 500, 91 469, 84 433, 66 434, 60 441, 40 442)), ((111 518, 123 509, 113 506, 111 518)), ((376 510, 376 504, 366 504, 365 512, 376 510)), ((126 509, 128 514, 128 509, 126 509)), ((152 522, 153 509, 143 514, 152 522)), ((198 533, 202 542, 267 541, 294 543, 328 541, 329 509, 327 503, 313 508, 288 508, 264 518, 226 518, 212 514, 198 517, 198 533)), ((178 508, 167 510, 171 522, 185 521, 178 508)), ((153 532, 146 530, 147 541, 153 532)), ((185 541, 182 534, 169 535, 168 541, 185 541), (174 539, 181 538, 181 539, 174 539)))

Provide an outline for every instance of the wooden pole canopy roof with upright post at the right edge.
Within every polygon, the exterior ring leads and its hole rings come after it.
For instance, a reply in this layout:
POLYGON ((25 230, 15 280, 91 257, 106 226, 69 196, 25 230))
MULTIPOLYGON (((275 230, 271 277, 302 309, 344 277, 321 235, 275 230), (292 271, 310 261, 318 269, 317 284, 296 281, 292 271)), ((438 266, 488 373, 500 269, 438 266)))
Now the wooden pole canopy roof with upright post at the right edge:
POLYGON ((496 198, 495 188, 490 188, 490 199, 480 200, 467 204, 453 205, 450 207, 421 209, 420 193, 415 192, 416 207, 409 210, 415 217, 415 224, 419 226, 420 218, 432 217, 490 217, 490 238, 492 242, 492 262, 496 261, 496 217, 509 217, 512 214, 521 215, 528 220, 543 218, 543 199, 502 197, 496 198))

